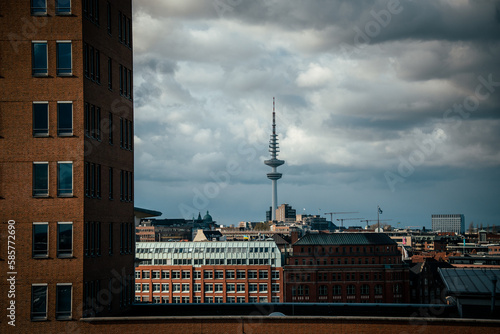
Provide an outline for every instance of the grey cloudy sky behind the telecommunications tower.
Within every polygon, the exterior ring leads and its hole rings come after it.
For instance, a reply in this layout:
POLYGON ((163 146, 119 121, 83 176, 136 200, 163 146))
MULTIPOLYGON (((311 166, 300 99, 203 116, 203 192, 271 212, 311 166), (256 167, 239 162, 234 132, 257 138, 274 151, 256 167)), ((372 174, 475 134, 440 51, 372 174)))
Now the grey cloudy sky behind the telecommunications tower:
POLYGON ((500 225, 500 2, 133 6, 136 206, 264 220, 275 97, 279 203, 500 225))

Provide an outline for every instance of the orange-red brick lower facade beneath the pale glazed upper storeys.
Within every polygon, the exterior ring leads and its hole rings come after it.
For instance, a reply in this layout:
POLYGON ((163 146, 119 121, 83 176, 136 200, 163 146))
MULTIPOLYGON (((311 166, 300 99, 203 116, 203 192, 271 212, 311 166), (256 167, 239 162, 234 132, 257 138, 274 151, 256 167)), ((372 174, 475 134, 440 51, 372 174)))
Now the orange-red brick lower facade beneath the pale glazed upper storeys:
POLYGON ((139 266, 136 302, 281 303, 283 268, 267 266, 139 266))

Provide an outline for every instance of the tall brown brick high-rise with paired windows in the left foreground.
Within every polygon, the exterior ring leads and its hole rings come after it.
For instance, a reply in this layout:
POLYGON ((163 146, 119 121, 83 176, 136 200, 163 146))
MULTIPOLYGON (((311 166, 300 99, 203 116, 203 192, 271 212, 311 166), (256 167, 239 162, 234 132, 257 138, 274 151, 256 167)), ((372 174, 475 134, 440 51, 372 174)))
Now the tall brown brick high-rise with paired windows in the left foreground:
POLYGON ((131 18, 131 0, 0 1, 0 308, 25 332, 133 301, 131 18))

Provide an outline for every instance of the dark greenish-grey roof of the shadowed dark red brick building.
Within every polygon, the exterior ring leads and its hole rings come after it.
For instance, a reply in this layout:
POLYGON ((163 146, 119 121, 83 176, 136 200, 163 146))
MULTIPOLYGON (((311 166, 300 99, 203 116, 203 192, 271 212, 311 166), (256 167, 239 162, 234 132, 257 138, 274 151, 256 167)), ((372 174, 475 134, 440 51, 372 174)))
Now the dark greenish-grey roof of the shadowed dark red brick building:
POLYGON ((396 245, 385 233, 307 234, 294 245, 396 245))

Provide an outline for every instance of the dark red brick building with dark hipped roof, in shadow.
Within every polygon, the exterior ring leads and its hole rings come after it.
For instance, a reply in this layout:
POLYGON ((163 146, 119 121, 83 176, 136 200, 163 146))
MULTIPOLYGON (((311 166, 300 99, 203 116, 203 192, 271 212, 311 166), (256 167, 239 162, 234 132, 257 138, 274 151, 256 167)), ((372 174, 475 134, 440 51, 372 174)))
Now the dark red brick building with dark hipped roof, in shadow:
POLYGON ((286 302, 409 302, 408 268, 384 233, 308 234, 284 272, 286 302))

